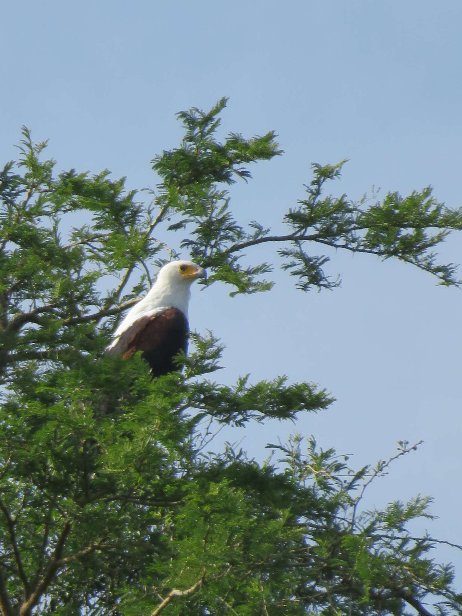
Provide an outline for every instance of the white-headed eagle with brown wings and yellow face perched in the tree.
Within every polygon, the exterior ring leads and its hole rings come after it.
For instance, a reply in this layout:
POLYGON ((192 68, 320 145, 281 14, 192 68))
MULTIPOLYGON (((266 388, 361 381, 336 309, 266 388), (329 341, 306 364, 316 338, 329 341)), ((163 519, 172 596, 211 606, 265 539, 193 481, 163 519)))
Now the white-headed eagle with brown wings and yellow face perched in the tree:
POLYGON ((187 351, 190 287, 197 278, 206 278, 205 270, 191 261, 164 265, 147 296, 116 329, 108 354, 127 359, 142 351, 153 377, 179 370, 174 357, 187 351))

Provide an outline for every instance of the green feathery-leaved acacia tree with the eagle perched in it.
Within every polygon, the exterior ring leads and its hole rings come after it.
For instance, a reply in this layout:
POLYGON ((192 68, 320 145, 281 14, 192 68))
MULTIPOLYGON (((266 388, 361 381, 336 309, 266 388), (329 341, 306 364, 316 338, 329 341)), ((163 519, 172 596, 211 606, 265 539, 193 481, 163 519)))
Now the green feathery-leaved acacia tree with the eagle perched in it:
POLYGON ((269 444, 274 463, 229 445, 206 454, 212 423, 294 419, 333 399, 282 377, 213 381, 222 347, 212 334, 192 334, 184 373, 154 381, 140 359, 103 353, 156 268, 179 256, 171 243, 208 267, 207 285, 232 293, 270 290, 271 265, 240 264, 261 243, 302 291, 338 284, 323 271, 324 246, 458 284, 433 249, 462 228, 461 211, 430 188, 368 204, 326 196, 342 163, 313 166, 285 234, 238 222, 227 187, 282 152, 273 132, 218 142, 224 105, 179 113, 184 140, 153 160, 161 183, 148 203, 107 171, 54 176, 46 144, 26 129, 18 162, 1 172, 0 612, 460 613, 452 567, 428 554, 437 540, 408 532, 431 517, 429 499, 363 504, 371 480, 416 445, 356 471, 314 439, 269 444))

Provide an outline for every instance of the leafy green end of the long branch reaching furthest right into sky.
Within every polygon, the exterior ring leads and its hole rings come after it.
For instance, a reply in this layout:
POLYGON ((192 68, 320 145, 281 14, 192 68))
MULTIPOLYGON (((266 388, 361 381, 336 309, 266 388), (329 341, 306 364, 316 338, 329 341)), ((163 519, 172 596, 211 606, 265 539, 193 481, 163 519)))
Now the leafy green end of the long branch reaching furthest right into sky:
POLYGON ((332 281, 323 272, 330 258, 307 254, 307 241, 352 253, 375 254, 382 259, 396 257, 435 275, 442 285, 460 285, 455 265, 438 264, 432 248, 444 241, 452 229, 462 228, 462 209, 452 210, 438 203, 431 187, 406 198, 388 193, 383 201, 375 201, 367 209, 365 199, 353 203, 346 195, 322 198, 323 185, 339 177, 344 163, 323 167, 314 164, 315 177, 306 187, 309 197, 285 216, 293 230, 293 247, 279 254, 287 259, 283 269, 299 278, 297 286, 307 291, 311 286, 321 290, 339 285, 338 278, 332 281))

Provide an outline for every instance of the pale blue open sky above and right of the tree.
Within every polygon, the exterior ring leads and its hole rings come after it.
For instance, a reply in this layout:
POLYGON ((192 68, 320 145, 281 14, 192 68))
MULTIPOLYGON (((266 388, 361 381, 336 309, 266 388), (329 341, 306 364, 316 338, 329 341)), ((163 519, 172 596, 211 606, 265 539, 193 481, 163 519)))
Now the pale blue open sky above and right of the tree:
MULTIPOLYGON (((331 185, 359 199, 434 186, 460 206, 462 4, 388 0, 246 1, 232 4, 100 0, 5 2, 2 7, 1 153, 16 155, 22 124, 50 138, 57 169, 154 186, 150 160, 180 139, 176 111, 229 96, 223 132, 278 133, 285 154, 255 166, 231 190, 242 222, 275 231, 310 181, 310 163, 350 162, 331 185)), ((270 246, 249 260, 274 261, 270 246)), ((187 255, 184 255, 185 257, 187 255)), ((395 442, 423 439, 370 488, 369 506, 416 493, 436 498, 429 530, 460 532, 461 291, 375 257, 332 253, 333 293, 302 294, 276 270, 271 293, 230 299, 194 290, 193 328, 227 344, 227 382, 285 373, 321 384, 338 402, 294 426, 249 426, 228 438, 261 458, 291 432, 353 455, 386 459, 395 442)), ((460 237, 442 249, 462 262, 460 237)), ((441 549, 440 559, 456 552, 441 549)))

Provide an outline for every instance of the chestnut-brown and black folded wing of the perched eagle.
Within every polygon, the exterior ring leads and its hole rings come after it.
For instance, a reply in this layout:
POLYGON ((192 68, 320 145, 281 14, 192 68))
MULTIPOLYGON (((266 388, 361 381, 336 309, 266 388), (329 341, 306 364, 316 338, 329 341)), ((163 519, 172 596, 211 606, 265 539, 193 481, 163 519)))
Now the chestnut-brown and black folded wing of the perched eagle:
MULTIPOLYGON (((127 359, 137 351, 151 367, 153 376, 166 375, 180 367, 174 362, 174 357, 180 351, 187 351, 188 320, 177 308, 169 308, 153 317, 142 317, 131 327, 131 338, 124 349, 123 359, 127 359), (136 326, 136 327, 135 327, 136 326)), ((126 331, 131 330, 128 328, 126 331)), ((125 332, 122 334, 124 335, 125 332)))

